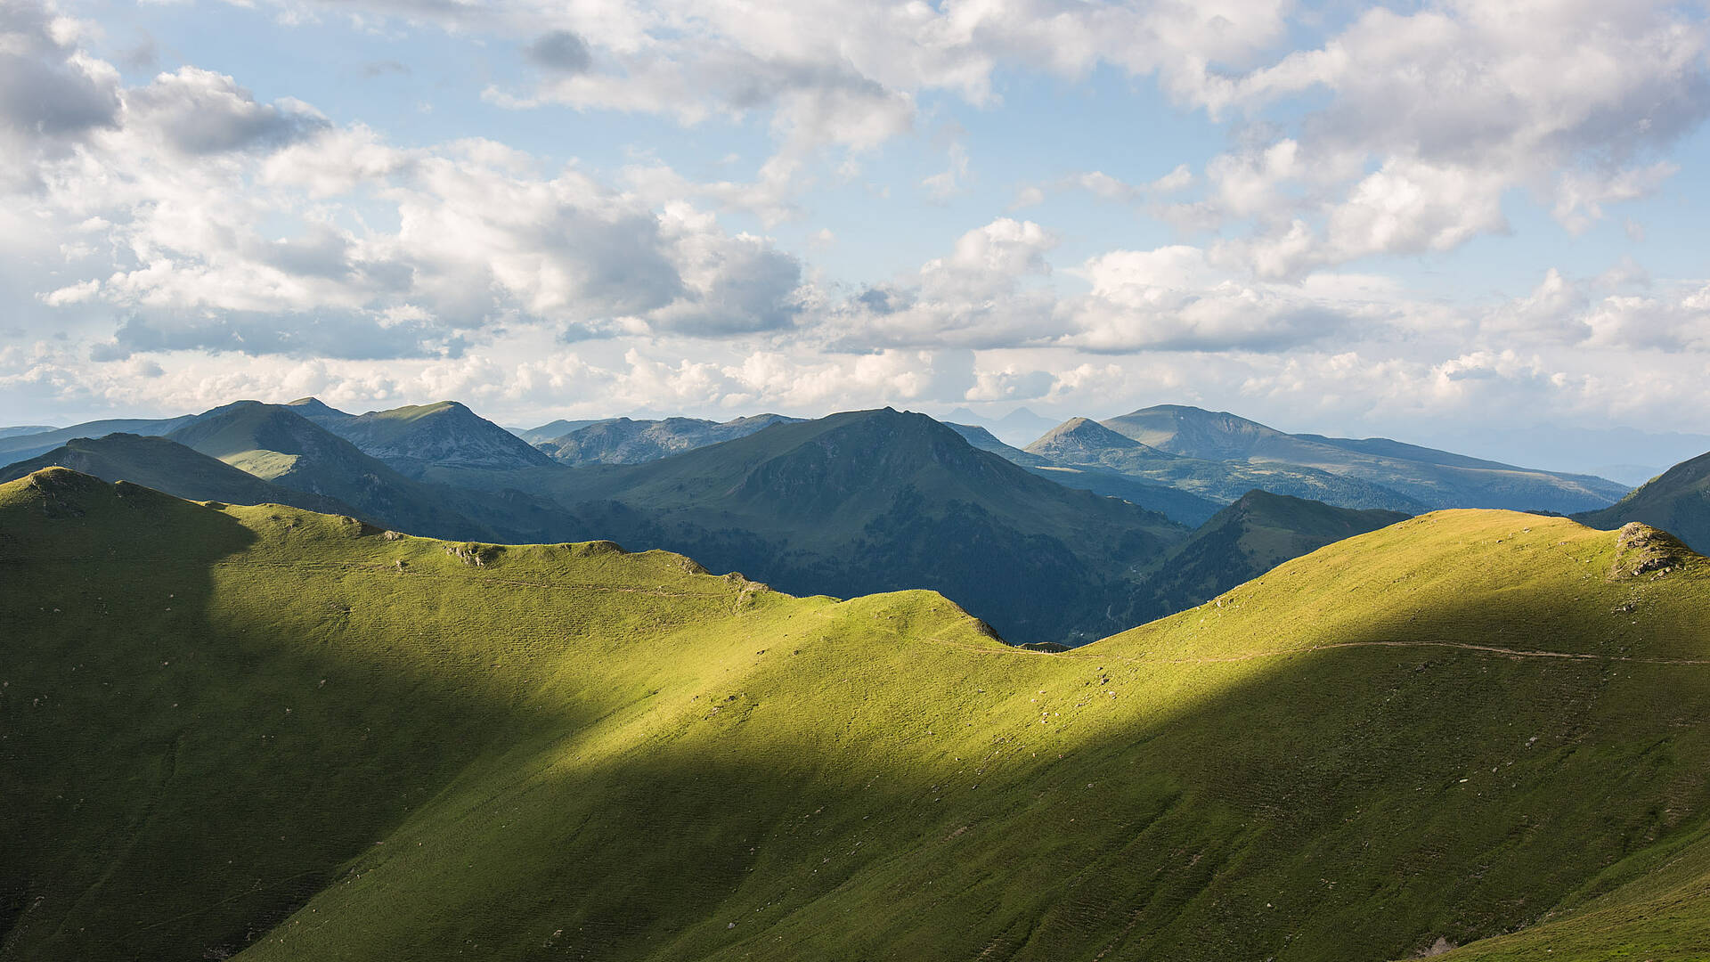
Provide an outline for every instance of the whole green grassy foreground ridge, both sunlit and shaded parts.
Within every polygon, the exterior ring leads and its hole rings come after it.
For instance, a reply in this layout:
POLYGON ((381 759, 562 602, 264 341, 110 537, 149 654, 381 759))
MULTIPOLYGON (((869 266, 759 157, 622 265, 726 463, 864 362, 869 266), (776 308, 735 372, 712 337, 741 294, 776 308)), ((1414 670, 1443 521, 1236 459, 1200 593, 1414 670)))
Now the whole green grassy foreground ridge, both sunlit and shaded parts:
POLYGON ((1424 515, 1048 656, 39 472, 0 957, 1701 959, 1710 572, 1619 537, 1424 515))

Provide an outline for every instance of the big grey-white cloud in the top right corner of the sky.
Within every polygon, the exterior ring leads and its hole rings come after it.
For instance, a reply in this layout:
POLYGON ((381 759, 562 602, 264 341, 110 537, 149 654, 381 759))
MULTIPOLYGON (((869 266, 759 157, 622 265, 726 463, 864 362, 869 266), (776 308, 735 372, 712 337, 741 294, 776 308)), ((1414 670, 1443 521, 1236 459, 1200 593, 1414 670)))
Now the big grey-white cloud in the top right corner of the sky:
POLYGON ((1212 193, 1171 217, 1253 219, 1226 252, 1262 276, 1454 250, 1507 231, 1517 188, 1583 233, 1674 173, 1647 154, 1710 113, 1705 51, 1705 24, 1662 0, 1377 7, 1317 50, 1206 74, 1194 99, 1214 116, 1312 106, 1293 130, 1253 125, 1260 142, 1212 159, 1212 193))

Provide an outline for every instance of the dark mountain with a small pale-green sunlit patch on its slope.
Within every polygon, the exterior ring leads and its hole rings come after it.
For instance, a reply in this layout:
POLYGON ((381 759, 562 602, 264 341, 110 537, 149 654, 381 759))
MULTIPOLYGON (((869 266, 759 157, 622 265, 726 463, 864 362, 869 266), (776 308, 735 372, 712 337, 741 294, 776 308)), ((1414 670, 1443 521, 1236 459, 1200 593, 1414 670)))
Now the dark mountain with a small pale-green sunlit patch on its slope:
POLYGON ((539 522, 504 503, 405 478, 294 407, 239 401, 197 416, 171 440, 282 488, 337 498, 409 534, 523 539, 539 522), (486 502, 486 503, 484 503, 486 502))

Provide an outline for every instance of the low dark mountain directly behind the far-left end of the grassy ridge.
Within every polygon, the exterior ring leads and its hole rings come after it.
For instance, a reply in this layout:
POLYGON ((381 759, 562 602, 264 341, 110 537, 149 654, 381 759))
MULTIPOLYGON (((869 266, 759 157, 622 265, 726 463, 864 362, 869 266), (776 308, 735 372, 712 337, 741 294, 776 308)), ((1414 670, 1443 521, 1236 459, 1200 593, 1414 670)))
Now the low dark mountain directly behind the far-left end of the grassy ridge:
POLYGON ((178 442, 140 435, 70 440, 48 454, 0 469, 0 483, 55 466, 92 474, 103 481, 130 481, 193 502, 291 505, 337 515, 363 514, 337 498, 270 484, 178 442))

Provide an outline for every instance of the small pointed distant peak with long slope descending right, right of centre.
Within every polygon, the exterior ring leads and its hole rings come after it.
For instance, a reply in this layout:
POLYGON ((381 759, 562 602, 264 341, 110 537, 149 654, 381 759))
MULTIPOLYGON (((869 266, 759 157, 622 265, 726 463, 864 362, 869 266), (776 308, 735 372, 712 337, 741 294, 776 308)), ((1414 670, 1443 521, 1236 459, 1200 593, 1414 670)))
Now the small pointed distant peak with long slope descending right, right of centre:
POLYGON ((1351 508, 1419 514, 1424 507, 1382 484, 1294 464, 1185 457, 1137 442, 1088 418, 1070 418, 1028 445, 1028 454, 1089 471, 1122 474, 1231 503, 1253 488, 1351 508))

